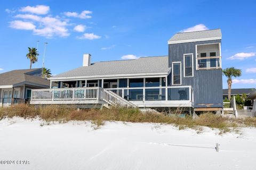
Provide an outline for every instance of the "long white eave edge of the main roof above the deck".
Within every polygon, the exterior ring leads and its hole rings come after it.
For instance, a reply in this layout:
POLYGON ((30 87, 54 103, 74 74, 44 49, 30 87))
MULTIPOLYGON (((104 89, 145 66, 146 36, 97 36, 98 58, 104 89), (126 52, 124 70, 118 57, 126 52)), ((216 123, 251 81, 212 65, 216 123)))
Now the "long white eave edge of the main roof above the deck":
POLYGON ((91 76, 79 76, 79 77, 60 77, 60 78, 49 78, 50 81, 75 81, 75 80, 85 80, 85 79, 124 79, 124 78, 148 78, 148 77, 166 77, 170 74, 169 72, 163 73, 136 73, 136 74, 112 74, 112 75, 91 75, 91 76))

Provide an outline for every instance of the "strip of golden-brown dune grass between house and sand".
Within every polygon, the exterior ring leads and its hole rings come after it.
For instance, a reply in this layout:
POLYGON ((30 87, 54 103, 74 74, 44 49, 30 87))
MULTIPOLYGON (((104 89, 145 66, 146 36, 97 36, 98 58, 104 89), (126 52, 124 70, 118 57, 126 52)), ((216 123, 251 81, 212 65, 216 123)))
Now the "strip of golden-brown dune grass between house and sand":
POLYGON ((45 107, 34 107, 31 105, 17 105, 7 108, 0 108, 0 120, 5 117, 19 116, 23 118, 39 117, 48 122, 66 123, 68 121, 91 121, 95 125, 95 129, 104 124, 104 121, 122 121, 137 123, 163 123, 173 124, 179 127, 179 130, 185 128, 193 128, 201 131, 198 126, 207 126, 209 128, 217 128, 220 133, 229 132, 237 127, 253 126, 256 127, 256 118, 245 118, 244 120, 232 120, 214 115, 212 113, 204 113, 199 118, 193 120, 191 116, 185 118, 179 116, 169 116, 165 114, 141 113, 138 108, 119 108, 111 107, 103 109, 80 109, 74 107, 61 107, 58 105, 49 105, 45 107))

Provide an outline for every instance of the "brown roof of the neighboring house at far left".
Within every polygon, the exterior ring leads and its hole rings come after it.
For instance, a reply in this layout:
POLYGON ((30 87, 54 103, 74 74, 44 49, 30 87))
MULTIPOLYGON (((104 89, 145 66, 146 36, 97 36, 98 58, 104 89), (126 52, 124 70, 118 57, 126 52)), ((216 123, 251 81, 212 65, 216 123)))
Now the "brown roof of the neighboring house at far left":
POLYGON ((49 87, 50 81, 31 74, 41 69, 12 70, 0 74, 0 86, 18 86, 21 84, 37 84, 38 86, 49 87))

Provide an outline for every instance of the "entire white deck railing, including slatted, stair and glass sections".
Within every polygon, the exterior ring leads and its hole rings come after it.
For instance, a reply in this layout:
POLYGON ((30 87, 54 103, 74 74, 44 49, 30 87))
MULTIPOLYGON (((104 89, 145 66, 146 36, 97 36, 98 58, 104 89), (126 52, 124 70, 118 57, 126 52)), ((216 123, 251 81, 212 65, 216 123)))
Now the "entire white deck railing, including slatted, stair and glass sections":
POLYGON ((31 101, 101 100, 110 105, 136 107, 131 101, 187 100, 193 103, 191 86, 104 89, 101 87, 33 89, 31 101))

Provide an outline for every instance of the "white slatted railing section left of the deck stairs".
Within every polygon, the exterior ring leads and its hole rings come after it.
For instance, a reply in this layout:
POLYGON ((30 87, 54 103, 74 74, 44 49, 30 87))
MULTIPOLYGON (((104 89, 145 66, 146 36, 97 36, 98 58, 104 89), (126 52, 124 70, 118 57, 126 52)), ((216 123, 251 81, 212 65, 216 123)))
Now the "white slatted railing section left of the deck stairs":
POLYGON ((88 88, 60 88, 60 89, 33 89, 31 101, 35 100, 97 100, 98 87, 88 88))

